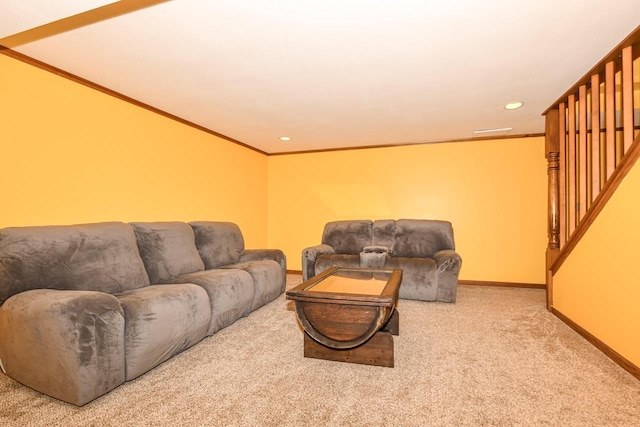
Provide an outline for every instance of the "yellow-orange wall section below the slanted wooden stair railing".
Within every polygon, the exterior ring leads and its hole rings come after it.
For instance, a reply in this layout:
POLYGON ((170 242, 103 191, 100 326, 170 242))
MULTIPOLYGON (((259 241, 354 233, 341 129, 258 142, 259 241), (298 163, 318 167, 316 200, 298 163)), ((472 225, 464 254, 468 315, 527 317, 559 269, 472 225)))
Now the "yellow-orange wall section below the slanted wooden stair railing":
POLYGON ((553 306, 640 366, 640 164, 553 277, 553 306))

